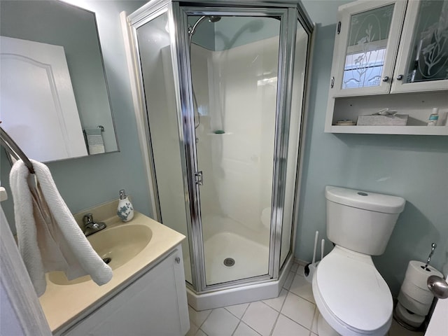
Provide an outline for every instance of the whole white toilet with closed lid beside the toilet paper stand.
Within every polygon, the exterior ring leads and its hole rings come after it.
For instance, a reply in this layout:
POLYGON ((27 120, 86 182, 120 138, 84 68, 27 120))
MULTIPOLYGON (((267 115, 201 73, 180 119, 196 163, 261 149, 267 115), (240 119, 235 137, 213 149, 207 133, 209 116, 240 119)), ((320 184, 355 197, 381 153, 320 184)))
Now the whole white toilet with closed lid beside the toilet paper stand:
POLYGON ((335 248, 319 262, 312 287, 318 335, 384 336, 393 301, 371 255, 381 255, 399 214, 401 197, 325 187, 327 236, 335 248))

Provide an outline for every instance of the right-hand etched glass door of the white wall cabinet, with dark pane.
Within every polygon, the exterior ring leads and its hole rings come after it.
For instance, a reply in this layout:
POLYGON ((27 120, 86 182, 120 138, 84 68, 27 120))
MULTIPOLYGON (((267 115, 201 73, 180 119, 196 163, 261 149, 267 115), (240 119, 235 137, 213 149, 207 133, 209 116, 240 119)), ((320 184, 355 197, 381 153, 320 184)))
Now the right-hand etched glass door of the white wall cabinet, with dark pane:
POLYGON ((409 1, 391 92, 448 90, 448 0, 409 1))

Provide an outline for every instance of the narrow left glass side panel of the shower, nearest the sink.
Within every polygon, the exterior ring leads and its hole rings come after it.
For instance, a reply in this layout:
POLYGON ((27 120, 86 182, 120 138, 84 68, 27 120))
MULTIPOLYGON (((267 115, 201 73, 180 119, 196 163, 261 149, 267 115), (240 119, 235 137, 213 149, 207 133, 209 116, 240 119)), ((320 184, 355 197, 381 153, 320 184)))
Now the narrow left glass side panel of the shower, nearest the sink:
MULTIPOLYGON (((158 197, 158 220, 188 236, 190 214, 186 207, 183 184, 183 157, 179 143, 176 90, 169 36, 169 18, 165 10, 136 27, 139 66, 146 104, 148 130, 151 134, 151 156, 155 173, 155 195, 158 197)), ((182 241, 186 281, 193 283, 190 241, 182 241)))

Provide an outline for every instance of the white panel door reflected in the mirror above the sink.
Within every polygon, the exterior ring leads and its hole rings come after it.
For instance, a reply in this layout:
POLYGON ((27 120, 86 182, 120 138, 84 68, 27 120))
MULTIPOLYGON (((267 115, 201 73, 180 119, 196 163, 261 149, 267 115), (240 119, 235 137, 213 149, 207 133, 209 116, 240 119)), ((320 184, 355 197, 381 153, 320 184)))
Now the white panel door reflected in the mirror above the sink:
POLYGON ((0 36, 1 121, 29 158, 87 155, 64 48, 0 36))

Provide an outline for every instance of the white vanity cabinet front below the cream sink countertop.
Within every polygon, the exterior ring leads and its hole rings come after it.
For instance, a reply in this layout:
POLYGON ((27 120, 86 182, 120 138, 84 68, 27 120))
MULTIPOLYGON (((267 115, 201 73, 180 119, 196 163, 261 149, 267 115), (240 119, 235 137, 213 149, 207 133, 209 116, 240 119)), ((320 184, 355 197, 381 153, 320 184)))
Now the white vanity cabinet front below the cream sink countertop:
POLYGON ((190 328, 181 246, 59 335, 185 335, 190 328))

